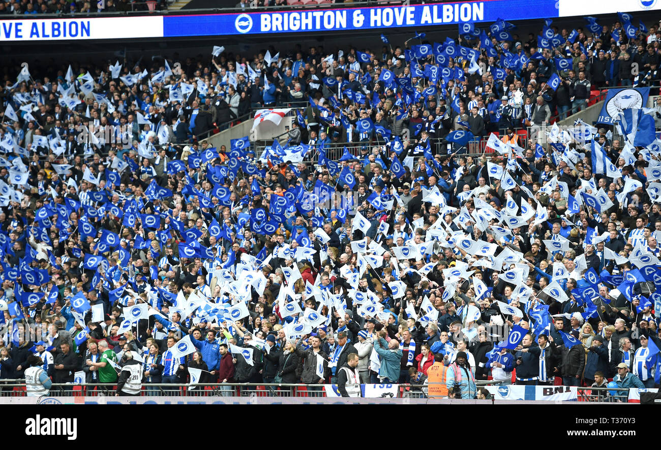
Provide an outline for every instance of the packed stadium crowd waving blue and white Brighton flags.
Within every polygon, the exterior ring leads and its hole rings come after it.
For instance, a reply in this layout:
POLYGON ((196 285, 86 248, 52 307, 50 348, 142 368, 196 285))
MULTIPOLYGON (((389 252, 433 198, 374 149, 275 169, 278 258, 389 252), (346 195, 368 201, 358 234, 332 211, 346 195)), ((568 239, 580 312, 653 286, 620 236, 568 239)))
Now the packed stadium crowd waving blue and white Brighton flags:
POLYGON ((489 377, 658 387, 661 108, 639 110, 654 118, 636 137, 513 137, 582 110, 591 86, 658 84, 661 32, 627 38, 620 20, 547 21, 525 42, 499 20, 459 44, 17 69, 0 88, 0 378, 36 355, 54 383, 113 383, 131 351, 147 386, 200 370, 191 382, 342 395, 442 379, 473 398, 489 377), (200 142, 301 104, 262 154, 200 142), (85 132, 106 125, 113 139, 85 132), (491 152, 465 154, 481 137, 491 152), (334 162, 332 142, 362 148, 334 162))

